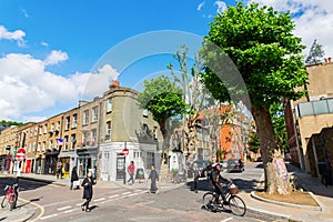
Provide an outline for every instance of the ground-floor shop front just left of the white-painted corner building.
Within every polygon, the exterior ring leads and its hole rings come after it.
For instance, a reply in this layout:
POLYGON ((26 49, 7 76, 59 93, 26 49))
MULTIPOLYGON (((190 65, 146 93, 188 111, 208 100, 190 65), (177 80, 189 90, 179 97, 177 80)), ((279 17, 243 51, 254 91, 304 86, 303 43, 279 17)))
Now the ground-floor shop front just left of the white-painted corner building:
POLYGON ((98 165, 98 149, 80 149, 77 150, 77 168, 79 178, 85 178, 89 171, 93 172, 93 176, 97 178, 97 165, 98 165))

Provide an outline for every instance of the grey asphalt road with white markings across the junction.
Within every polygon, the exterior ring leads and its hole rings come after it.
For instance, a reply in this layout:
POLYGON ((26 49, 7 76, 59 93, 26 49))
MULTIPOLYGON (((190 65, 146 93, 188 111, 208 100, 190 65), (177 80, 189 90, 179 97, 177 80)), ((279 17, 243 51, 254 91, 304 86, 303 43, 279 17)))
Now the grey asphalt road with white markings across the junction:
MULTIPOLYGON (((261 174, 262 169, 255 165, 249 165, 243 173, 224 173, 241 190, 253 185, 261 174)), ((1 179, 1 183, 9 182, 6 180, 12 179, 1 179)), ((145 188, 135 185, 97 186, 91 212, 82 212, 80 209, 83 202, 82 190, 69 190, 68 186, 21 180, 20 198, 34 203, 37 213, 32 221, 278 221, 251 211, 244 218, 239 218, 229 212, 212 213, 202 210, 202 195, 208 190, 206 181, 200 181, 199 193, 191 191, 191 185, 184 184, 159 194, 148 193, 145 188)))

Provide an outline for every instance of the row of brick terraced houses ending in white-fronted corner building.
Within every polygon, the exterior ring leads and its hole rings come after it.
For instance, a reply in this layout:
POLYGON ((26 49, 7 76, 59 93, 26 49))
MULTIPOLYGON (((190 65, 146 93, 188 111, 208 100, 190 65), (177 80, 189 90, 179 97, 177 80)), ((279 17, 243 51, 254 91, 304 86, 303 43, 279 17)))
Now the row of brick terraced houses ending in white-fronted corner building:
POLYGON ((64 176, 73 167, 79 176, 98 172, 101 180, 119 180, 124 165, 159 165, 159 125, 137 104, 138 92, 112 81, 110 89, 93 101, 79 101, 77 108, 41 122, 7 128, 0 134, 0 171, 56 174, 60 161, 64 176), (24 148, 24 161, 16 161, 24 148), (127 160, 122 150, 130 150, 127 160), (99 170, 97 170, 99 169, 99 170))

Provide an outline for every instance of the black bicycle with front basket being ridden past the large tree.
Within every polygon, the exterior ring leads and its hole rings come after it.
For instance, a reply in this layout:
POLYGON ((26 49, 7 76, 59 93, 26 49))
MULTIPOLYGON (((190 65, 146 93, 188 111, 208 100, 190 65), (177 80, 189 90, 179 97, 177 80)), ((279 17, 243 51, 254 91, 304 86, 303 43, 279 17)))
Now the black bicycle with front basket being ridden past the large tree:
POLYGON ((211 212, 218 212, 228 210, 224 206, 229 206, 229 210, 234 214, 239 216, 243 216, 246 213, 246 205, 245 202, 238 196, 239 188, 233 183, 230 182, 226 185, 226 193, 225 193, 225 200, 223 201, 221 195, 219 195, 219 200, 215 199, 215 192, 206 192, 203 195, 203 208, 211 212))

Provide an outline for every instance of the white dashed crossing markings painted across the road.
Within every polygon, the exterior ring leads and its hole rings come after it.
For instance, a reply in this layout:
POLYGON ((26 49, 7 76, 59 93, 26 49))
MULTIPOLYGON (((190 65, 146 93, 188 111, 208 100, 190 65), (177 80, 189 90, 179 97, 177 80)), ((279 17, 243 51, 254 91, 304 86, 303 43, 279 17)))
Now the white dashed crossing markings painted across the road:
MULTIPOLYGON (((123 192, 122 190, 118 190, 118 192, 120 192, 120 191, 121 191, 121 193, 94 199, 94 200, 92 200, 92 203, 98 203, 98 204, 102 205, 102 204, 114 202, 114 201, 118 201, 121 199, 127 199, 130 196, 147 193, 147 191, 143 191, 143 190, 132 190, 132 191, 127 191, 127 192, 123 192)), ((117 192, 117 191, 114 191, 114 192, 117 192)), ((81 204, 82 203, 73 203, 73 204, 63 205, 63 206, 57 209, 57 211, 58 211, 57 213, 43 215, 39 220, 40 221, 51 221, 51 219, 54 219, 59 215, 73 213, 79 210, 81 211, 81 208, 79 208, 81 204)))

